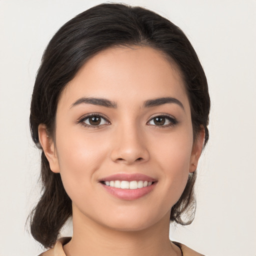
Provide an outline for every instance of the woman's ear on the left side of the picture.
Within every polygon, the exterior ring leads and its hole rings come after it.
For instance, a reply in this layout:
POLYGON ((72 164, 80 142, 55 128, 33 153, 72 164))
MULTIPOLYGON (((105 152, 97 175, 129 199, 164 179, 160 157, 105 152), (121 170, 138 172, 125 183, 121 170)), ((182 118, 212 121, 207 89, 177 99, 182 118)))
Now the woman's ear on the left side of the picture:
POLYGON ((43 123, 39 124, 38 126, 38 136, 43 152, 49 162, 51 171, 55 173, 59 172, 59 164, 55 145, 48 135, 46 125, 43 123))

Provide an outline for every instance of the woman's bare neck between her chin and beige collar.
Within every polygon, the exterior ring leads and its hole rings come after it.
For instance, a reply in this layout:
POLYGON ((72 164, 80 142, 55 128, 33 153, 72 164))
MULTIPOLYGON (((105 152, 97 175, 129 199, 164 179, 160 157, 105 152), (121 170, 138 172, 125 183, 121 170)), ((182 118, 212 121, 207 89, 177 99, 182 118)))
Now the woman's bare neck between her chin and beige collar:
POLYGON ((146 229, 123 231, 103 226, 73 209, 73 236, 63 248, 66 256, 181 255, 169 241, 169 212, 146 229))

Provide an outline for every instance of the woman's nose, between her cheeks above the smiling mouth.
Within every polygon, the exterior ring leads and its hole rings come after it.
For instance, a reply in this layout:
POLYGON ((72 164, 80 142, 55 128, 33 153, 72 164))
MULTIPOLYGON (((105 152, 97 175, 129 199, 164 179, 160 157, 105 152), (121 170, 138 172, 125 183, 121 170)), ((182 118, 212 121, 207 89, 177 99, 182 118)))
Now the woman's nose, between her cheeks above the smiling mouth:
POLYGON ((127 165, 148 161, 149 152, 146 148, 146 141, 136 125, 123 125, 118 127, 114 133, 112 161, 127 165))

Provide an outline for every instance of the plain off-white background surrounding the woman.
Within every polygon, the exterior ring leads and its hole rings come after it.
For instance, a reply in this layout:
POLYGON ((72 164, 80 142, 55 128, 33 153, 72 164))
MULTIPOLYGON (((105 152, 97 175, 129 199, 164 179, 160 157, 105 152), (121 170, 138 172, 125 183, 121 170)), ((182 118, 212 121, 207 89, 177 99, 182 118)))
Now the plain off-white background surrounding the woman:
MULTIPOLYGON (((25 229, 40 192, 39 153, 28 125, 33 82, 54 32, 101 2, 0 0, 0 255, 42 251, 25 229)), ((210 139, 198 167, 195 220, 171 226, 170 238, 208 256, 256 255, 256 1, 123 2, 180 26, 209 84, 210 139)))

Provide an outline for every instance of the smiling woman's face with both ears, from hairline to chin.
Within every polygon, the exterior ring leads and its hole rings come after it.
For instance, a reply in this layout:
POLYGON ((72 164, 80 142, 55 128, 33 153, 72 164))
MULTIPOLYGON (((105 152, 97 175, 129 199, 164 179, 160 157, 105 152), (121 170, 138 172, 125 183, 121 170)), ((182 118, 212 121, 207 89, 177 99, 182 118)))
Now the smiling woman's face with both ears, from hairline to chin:
POLYGON ((168 221, 202 144, 178 69, 150 47, 93 56, 60 95, 54 143, 43 130, 73 217, 120 230, 168 221))

